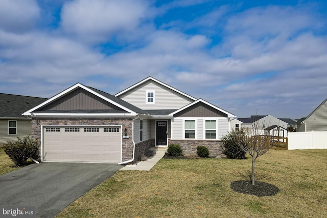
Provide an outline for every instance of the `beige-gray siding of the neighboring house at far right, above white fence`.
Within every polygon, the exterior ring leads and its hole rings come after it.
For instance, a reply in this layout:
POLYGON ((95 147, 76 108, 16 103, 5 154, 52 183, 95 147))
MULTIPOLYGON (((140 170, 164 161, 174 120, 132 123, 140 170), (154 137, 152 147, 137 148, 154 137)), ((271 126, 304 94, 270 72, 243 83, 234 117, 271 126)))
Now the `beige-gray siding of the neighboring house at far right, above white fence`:
POLYGON ((306 131, 327 131, 327 99, 305 120, 306 131))

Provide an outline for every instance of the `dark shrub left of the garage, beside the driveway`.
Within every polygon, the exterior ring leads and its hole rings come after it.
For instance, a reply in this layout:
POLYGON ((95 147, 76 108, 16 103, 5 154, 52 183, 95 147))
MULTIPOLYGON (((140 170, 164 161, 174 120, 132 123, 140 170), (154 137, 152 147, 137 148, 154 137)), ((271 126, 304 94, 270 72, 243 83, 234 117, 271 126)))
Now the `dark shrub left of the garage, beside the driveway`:
POLYGON ((16 166, 22 166, 30 157, 38 159, 38 141, 30 137, 25 139, 17 138, 16 142, 7 142, 5 152, 12 159, 16 166))

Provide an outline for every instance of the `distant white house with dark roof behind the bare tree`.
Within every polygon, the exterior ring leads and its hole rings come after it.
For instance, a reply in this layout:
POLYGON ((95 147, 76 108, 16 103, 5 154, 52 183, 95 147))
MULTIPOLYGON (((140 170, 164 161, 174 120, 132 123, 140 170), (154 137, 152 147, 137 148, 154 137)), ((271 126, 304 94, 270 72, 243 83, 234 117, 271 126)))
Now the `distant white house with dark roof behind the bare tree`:
POLYGON ((257 126, 260 129, 266 129, 271 126, 280 126, 287 129, 287 122, 284 122, 283 120, 275 118, 271 115, 252 115, 249 118, 238 118, 238 120, 242 122, 242 127, 244 128, 252 128, 254 124, 258 124, 257 126))

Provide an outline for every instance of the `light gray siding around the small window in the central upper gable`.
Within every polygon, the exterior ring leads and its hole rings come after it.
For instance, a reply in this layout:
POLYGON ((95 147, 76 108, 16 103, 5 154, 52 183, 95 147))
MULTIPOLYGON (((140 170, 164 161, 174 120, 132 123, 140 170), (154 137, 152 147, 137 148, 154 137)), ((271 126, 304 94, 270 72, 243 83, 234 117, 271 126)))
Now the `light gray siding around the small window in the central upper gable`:
POLYGON ((119 97, 143 110, 177 110, 194 101, 152 80, 146 81, 119 97), (155 91, 155 104, 146 104, 147 90, 155 91))

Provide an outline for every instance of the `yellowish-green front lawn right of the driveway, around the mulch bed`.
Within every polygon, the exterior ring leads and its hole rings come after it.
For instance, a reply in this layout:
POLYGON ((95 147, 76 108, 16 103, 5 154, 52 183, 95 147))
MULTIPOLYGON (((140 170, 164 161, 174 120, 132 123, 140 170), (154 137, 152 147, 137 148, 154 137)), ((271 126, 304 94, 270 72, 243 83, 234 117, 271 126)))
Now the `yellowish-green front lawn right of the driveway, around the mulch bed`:
POLYGON ((58 217, 327 217, 327 150, 271 150, 256 179, 281 192, 233 192, 251 159, 161 159, 149 172, 118 171, 58 217))

